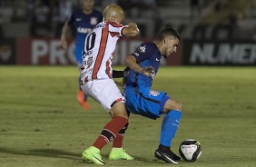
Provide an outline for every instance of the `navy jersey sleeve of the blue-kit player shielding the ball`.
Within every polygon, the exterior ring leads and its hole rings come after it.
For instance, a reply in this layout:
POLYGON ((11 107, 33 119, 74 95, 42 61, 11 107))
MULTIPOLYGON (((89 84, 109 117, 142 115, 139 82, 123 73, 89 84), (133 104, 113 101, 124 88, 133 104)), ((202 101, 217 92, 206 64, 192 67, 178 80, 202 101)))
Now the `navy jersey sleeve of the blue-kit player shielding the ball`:
POLYGON ((151 58, 154 51, 155 48, 152 44, 141 44, 132 55, 136 59, 137 63, 141 63, 143 60, 151 58))

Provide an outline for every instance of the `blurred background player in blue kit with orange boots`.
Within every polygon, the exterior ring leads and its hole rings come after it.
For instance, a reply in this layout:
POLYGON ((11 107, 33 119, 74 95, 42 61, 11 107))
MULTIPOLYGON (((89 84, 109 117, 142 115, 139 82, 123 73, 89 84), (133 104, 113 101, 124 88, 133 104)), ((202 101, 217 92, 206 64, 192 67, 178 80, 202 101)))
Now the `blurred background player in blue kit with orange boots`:
MULTIPOLYGON (((64 24, 60 45, 63 49, 66 49, 66 35, 70 27, 73 27, 75 31, 74 54, 79 69, 83 62, 82 54, 84 51, 85 37, 87 34, 92 32, 95 25, 98 25, 98 23, 102 21, 102 13, 94 10, 94 0, 83 0, 83 8, 75 10, 64 24)), ((87 95, 85 95, 80 88, 80 78, 77 100, 84 107, 84 109, 90 108, 90 105, 87 103, 87 95)))

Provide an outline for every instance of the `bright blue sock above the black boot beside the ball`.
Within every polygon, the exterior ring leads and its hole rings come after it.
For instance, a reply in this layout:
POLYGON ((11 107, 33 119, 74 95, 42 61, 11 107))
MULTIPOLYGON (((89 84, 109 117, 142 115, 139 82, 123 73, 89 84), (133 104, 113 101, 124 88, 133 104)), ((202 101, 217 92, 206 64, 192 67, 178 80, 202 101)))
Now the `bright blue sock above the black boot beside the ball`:
POLYGON ((171 110, 164 115, 162 120, 162 129, 160 134, 160 144, 171 147, 172 139, 179 127, 182 112, 171 110))

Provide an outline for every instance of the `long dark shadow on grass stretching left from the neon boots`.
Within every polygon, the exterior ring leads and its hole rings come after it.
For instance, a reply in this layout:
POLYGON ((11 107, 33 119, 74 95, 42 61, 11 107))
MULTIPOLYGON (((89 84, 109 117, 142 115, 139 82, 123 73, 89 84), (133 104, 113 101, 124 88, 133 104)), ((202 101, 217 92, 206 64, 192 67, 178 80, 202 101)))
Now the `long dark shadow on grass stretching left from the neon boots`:
POLYGON ((43 156, 54 158, 65 158, 71 160, 81 160, 81 153, 65 152, 57 149, 33 149, 33 150, 14 150, 0 147, 0 152, 18 155, 43 156))

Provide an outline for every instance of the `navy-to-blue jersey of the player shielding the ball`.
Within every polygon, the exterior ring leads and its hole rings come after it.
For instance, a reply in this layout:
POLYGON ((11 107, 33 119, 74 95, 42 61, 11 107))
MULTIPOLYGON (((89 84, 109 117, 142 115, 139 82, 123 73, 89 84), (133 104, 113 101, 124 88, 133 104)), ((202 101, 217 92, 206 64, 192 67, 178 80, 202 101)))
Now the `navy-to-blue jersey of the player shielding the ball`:
POLYGON ((153 84, 153 77, 159 69, 160 59, 162 57, 160 50, 154 43, 145 43, 141 44, 132 55, 136 59, 136 62, 143 68, 153 66, 154 70, 152 77, 130 70, 125 81, 125 86, 151 87, 153 84))

